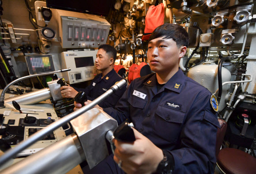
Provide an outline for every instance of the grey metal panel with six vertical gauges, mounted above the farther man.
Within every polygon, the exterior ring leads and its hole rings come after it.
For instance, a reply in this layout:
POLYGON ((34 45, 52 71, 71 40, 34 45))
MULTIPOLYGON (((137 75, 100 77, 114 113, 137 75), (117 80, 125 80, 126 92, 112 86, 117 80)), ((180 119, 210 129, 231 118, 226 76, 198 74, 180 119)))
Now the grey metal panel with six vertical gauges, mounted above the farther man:
MULTIPOLYGON (((110 24, 101 16, 52 9, 53 19, 59 27, 62 48, 97 48, 105 44, 110 24)), ((56 23, 49 23, 49 26, 56 23)))

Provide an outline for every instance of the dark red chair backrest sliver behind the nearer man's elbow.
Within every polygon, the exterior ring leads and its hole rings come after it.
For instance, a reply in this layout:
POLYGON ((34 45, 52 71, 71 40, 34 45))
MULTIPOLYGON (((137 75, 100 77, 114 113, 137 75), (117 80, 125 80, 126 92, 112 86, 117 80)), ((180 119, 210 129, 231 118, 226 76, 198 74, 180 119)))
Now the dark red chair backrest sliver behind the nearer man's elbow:
POLYGON ((220 128, 217 130, 217 138, 216 138, 216 159, 218 159, 218 152, 220 151, 222 141, 224 139, 226 129, 227 129, 227 123, 225 120, 218 119, 220 128))

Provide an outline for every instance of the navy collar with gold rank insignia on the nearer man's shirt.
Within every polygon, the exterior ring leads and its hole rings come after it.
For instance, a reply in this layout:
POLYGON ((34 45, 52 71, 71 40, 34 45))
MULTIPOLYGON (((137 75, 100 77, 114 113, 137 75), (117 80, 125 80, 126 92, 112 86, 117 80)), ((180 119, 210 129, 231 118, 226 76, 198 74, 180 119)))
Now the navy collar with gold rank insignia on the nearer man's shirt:
MULTIPOLYGON (((166 89, 169 89, 171 91, 175 91, 177 93, 181 92, 181 89, 183 87, 185 81, 185 76, 182 70, 179 68, 179 70, 168 80, 168 82, 164 85, 166 89)), ((143 83, 146 86, 154 87, 157 84, 156 81, 156 74, 151 76, 146 82, 143 83)), ((158 91, 162 92, 164 88, 158 91)))

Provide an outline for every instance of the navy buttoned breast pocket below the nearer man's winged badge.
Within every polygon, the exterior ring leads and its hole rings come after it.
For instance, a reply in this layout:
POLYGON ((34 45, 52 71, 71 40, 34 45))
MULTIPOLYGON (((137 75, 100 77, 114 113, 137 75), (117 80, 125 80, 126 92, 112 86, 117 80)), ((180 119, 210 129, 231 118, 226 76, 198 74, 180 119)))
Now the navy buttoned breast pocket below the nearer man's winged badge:
POLYGON ((176 142, 181 133, 185 112, 159 105, 155 113, 154 134, 170 143, 176 142))

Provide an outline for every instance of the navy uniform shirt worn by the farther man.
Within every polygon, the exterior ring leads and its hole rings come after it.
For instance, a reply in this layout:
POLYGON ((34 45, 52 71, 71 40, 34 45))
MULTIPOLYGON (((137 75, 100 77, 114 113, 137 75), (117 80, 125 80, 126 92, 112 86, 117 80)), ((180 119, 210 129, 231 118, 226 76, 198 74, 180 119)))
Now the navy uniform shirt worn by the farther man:
MULTIPOLYGON (((87 88, 75 88, 76 91, 83 91, 87 94, 88 100, 94 100, 98 98, 100 95, 105 93, 112 87, 115 83, 122 80, 123 78, 117 74, 117 72, 112 69, 107 75, 102 78, 102 73, 98 74, 94 77, 92 82, 87 88)), ((104 101, 99 103, 98 105, 102 108, 115 107, 119 98, 124 94, 126 87, 122 87, 120 90, 116 91, 114 94, 110 95, 104 101)))

